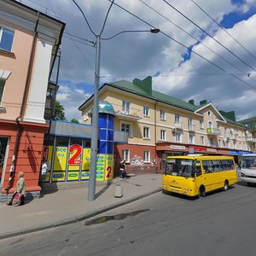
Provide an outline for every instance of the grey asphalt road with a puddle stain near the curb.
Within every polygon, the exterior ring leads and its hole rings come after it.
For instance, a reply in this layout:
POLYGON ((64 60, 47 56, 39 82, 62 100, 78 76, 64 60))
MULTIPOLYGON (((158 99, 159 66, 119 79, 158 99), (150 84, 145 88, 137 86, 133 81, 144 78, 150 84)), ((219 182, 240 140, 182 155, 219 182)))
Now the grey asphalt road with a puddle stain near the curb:
POLYGON ((0 255, 256 254, 256 187, 191 200, 161 192, 78 224, 0 241, 0 255))

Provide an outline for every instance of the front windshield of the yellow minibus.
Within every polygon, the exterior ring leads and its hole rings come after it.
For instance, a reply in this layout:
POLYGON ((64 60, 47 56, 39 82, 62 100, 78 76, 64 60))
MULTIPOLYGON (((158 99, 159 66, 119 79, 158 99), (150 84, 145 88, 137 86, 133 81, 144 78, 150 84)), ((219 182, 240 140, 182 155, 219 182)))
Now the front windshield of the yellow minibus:
POLYGON ((165 174, 174 176, 192 177, 193 174, 192 159, 167 159, 165 174))

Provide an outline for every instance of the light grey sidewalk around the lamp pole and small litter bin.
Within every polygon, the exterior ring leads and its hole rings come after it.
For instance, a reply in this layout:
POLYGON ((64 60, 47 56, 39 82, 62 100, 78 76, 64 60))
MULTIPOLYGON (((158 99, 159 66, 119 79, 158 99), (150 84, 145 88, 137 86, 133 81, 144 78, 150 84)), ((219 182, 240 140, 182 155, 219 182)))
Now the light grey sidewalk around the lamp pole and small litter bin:
POLYGON ((26 202, 25 206, 0 203, 0 239, 19 236, 63 224, 71 224, 107 212, 160 191, 160 174, 143 174, 120 180, 109 186, 96 186, 96 200, 88 201, 88 188, 64 189, 26 202), (114 197, 116 184, 121 184, 123 196, 114 197))

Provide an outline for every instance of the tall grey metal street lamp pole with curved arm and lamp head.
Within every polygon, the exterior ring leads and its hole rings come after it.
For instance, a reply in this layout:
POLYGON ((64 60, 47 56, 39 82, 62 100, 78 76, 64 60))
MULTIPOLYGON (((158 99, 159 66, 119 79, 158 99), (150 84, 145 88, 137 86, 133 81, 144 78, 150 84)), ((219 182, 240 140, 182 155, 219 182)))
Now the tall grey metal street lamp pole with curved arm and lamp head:
POLYGON ((160 32, 159 28, 151 28, 150 30, 125 30, 119 32, 110 38, 101 38, 101 35, 96 36, 96 68, 95 68, 95 84, 94 84, 94 98, 92 106, 92 123, 91 123, 91 143, 90 143, 90 179, 88 185, 88 201, 95 200, 96 191, 96 164, 97 164, 97 151, 98 151, 98 139, 99 139, 99 80, 100 80, 100 59, 101 59, 101 40, 109 40, 121 33, 126 32, 160 32))

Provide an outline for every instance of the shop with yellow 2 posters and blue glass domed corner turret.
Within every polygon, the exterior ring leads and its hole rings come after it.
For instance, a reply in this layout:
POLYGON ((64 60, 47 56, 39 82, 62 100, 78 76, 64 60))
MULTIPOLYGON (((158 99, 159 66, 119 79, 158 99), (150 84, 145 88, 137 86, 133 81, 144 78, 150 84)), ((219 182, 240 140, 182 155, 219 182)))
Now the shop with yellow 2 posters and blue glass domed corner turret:
MULTIPOLYGON (((113 142, 127 143, 123 131, 114 131, 114 111, 108 102, 99 106, 99 143, 96 182, 113 179, 113 142)), ((44 139, 40 183, 63 186, 84 186, 90 177, 91 125, 52 121, 44 139)))

